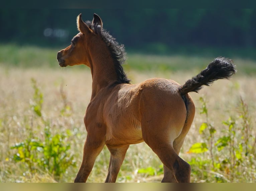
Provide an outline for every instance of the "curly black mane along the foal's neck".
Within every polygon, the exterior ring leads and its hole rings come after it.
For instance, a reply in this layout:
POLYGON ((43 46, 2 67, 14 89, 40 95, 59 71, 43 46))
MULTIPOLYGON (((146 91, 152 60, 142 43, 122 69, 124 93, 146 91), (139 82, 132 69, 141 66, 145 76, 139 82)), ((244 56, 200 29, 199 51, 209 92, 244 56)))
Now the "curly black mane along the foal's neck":
POLYGON ((126 60, 126 53, 124 49, 124 45, 116 41, 115 38, 113 38, 109 32, 107 32, 105 29, 101 29, 100 25, 94 25, 91 21, 86 21, 86 25, 94 31, 94 33, 101 35, 102 40, 107 44, 107 47, 111 53, 111 56, 114 61, 115 70, 118 77, 118 82, 120 83, 126 83, 130 84, 130 80, 127 78, 126 74, 124 73, 124 69, 122 67, 122 64, 126 60))

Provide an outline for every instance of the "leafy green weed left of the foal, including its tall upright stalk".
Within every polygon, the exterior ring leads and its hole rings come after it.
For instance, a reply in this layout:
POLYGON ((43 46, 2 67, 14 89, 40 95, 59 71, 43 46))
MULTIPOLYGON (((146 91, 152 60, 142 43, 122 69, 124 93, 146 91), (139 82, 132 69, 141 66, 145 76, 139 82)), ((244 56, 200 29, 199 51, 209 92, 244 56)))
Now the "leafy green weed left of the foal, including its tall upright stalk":
POLYGON ((31 79, 31 82, 34 96, 30 100, 30 107, 36 113, 36 117, 40 117, 42 125, 38 125, 38 128, 43 128, 43 137, 35 137, 33 127, 27 124, 28 136, 22 142, 11 147, 16 150, 12 158, 15 162, 26 163, 31 174, 44 170, 52 174, 56 181, 59 181, 60 176, 66 172, 67 168, 76 166, 74 155, 70 153, 70 142, 68 141, 72 133, 69 129, 61 133, 53 134, 51 132, 50 122, 42 117, 43 94, 36 85, 36 81, 31 79))

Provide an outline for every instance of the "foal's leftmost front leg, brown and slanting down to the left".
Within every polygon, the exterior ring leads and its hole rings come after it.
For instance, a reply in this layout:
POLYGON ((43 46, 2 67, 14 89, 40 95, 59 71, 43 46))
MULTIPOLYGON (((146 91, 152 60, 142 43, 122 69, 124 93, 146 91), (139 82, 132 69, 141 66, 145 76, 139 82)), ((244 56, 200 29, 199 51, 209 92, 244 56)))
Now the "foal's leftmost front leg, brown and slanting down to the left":
POLYGON ((74 182, 86 182, 92 171, 96 157, 100 154, 104 145, 104 141, 95 140, 87 136, 84 144, 82 164, 74 182))

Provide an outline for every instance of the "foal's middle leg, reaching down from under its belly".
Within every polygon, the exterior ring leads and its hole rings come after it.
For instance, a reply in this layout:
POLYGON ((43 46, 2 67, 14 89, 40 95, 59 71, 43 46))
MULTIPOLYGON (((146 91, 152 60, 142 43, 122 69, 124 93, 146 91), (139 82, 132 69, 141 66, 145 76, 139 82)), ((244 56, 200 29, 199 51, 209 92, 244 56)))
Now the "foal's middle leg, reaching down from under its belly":
POLYGON ((109 161, 108 175, 105 182, 116 182, 118 172, 124 161, 124 157, 129 145, 122 147, 111 147, 107 145, 107 147, 111 153, 111 156, 109 161))

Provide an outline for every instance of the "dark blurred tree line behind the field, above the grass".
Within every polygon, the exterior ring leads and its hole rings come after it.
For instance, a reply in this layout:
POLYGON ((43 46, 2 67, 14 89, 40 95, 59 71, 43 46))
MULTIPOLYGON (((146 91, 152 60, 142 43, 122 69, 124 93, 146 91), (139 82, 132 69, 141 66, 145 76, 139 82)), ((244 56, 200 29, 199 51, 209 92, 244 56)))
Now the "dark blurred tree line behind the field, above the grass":
POLYGON ((97 13, 128 53, 256 58, 255 9, 0 9, 0 42, 65 47, 79 13, 97 13))

